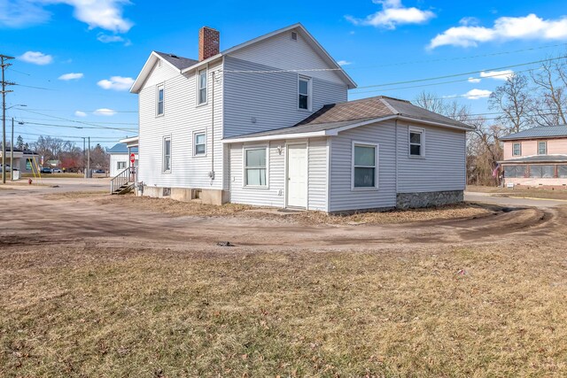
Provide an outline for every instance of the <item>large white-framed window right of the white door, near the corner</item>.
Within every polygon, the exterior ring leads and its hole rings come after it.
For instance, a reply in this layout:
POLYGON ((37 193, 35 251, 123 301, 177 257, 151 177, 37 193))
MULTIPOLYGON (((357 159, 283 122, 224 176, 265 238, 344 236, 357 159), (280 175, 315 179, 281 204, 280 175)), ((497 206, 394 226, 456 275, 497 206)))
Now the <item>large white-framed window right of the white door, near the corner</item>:
POLYGON ((353 188, 377 188, 377 144, 353 143, 353 188))

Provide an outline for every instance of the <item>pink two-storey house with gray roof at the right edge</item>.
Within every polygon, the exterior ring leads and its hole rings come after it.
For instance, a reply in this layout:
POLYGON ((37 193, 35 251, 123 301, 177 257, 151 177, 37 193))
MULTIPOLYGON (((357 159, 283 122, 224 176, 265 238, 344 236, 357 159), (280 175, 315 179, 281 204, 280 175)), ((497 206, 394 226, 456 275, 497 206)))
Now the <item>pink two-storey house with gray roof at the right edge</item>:
POLYGON ((533 127, 501 138, 507 185, 567 186, 567 126, 533 127))

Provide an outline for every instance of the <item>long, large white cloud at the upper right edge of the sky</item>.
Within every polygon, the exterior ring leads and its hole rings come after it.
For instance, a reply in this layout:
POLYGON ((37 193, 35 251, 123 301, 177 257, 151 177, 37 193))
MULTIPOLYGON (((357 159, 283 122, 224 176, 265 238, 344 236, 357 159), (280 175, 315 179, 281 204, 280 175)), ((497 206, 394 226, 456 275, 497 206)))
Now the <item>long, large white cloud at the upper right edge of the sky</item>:
POLYGON ((476 47, 478 43, 511 40, 565 40, 567 39, 567 16, 559 19, 541 19, 535 14, 525 17, 501 17, 493 27, 462 25, 450 27, 436 35, 428 46, 435 49, 451 45, 476 47))

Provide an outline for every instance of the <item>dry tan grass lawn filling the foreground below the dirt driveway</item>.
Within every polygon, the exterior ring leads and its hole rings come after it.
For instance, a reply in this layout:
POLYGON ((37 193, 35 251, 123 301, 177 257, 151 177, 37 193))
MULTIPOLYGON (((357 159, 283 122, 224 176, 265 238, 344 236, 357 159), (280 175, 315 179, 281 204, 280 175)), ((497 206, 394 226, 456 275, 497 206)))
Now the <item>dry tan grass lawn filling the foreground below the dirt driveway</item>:
POLYGON ((566 269, 551 242, 411 253, 4 245, 0 375, 566 376, 566 269))

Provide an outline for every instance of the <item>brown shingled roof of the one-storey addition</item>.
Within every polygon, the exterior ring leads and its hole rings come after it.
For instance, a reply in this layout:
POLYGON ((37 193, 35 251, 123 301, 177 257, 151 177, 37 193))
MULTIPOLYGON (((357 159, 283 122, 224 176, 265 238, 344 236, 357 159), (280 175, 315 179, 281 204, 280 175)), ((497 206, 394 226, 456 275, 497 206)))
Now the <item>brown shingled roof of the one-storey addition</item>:
POLYGON ((362 98, 361 100, 348 101, 346 103, 324 105, 319 111, 291 127, 276 128, 275 130, 247 135, 238 135, 226 139, 230 141, 231 139, 253 138, 270 135, 313 133, 364 124, 364 122, 371 122, 372 120, 396 116, 406 117, 416 121, 430 121, 466 130, 472 129, 472 127, 465 125, 462 122, 447 118, 435 112, 430 112, 420 108, 419 106, 411 104, 406 100, 386 96, 376 96, 362 98))

